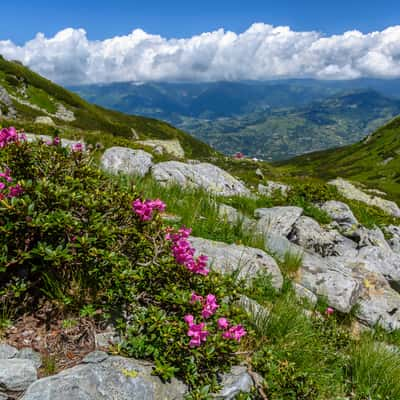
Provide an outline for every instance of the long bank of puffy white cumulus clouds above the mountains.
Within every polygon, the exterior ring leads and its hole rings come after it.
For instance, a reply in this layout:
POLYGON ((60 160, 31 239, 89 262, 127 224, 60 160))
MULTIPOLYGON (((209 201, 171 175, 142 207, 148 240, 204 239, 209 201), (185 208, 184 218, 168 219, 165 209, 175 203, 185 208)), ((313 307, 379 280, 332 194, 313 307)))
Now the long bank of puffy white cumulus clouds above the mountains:
POLYGON ((400 25, 323 36, 256 23, 240 34, 219 29, 166 39, 141 29, 103 41, 83 29, 42 33, 23 46, 0 40, 0 54, 62 84, 277 78, 400 77, 400 25))

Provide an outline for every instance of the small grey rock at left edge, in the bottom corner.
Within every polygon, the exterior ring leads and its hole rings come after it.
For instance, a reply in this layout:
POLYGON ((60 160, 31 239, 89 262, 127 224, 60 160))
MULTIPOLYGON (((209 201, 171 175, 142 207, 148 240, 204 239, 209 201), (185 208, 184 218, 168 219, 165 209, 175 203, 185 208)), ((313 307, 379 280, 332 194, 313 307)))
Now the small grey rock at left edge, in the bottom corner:
POLYGON ((33 361, 21 359, 0 360, 0 387, 12 392, 19 392, 37 379, 33 361))

